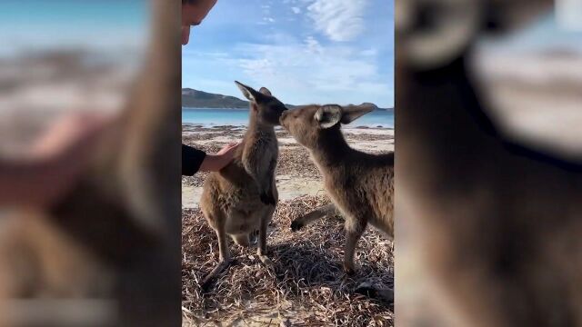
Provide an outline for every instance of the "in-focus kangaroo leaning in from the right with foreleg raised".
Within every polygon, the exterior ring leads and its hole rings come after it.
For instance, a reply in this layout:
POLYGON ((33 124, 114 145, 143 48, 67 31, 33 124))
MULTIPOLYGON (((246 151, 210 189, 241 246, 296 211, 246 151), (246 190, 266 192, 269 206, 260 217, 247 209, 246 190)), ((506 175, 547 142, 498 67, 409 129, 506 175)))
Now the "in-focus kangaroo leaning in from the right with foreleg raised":
POLYGON ((352 149, 340 130, 340 124, 349 124, 374 109, 374 104, 306 105, 283 113, 280 120, 311 152, 335 204, 297 219, 292 229, 339 209, 346 217, 344 271, 348 274, 354 272, 356 243, 367 223, 394 237, 394 153, 366 154, 352 149))

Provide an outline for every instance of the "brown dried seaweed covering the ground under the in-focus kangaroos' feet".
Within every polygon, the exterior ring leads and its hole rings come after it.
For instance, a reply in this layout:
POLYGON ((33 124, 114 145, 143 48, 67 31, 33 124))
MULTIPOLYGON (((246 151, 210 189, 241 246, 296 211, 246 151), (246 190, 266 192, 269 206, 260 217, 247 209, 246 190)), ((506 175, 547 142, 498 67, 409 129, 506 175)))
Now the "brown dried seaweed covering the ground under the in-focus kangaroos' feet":
POLYGON ((276 265, 270 272, 255 248, 230 242, 236 258, 202 294, 199 282, 217 263, 216 234, 198 209, 183 212, 182 296, 185 323, 213 325, 349 325, 392 326, 394 313, 354 290, 361 282, 393 286, 392 242, 372 229, 358 243, 355 276, 341 270, 343 220, 326 218, 300 232, 289 225, 296 217, 328 203, 326 196, 303 196, 279 203, 269 225, 267 246, 276 265))

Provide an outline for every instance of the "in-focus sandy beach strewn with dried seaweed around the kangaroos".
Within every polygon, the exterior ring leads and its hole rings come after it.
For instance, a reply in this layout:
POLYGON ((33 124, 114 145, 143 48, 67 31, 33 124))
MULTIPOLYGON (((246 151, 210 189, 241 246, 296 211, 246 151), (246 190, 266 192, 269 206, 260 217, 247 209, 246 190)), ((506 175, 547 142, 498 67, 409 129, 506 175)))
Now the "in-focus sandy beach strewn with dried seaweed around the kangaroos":
MULTIPOLYGON (((184 124, 183 143, 216 152, 244 133, 244 128, 236 126, 184 124)), ((229 241, 236 263, 222 274, 213 291, 201 292, 199 282, 218 259, 216 234, 197 204, 207 173, 182 179, 184 325, 393 326, 392 305, 355 292, 363 282, 377 288, 394 286, 392 241, 368 228, 356 250, 357 272, 347 276, 341 269, 342 217, 328 217, 291 232, 294 219, 329 199, 306 149, 284 130, 276 134, 279 203, 266 241, 274 271, 258 261, 256 248, 241 248, 229 241)), ((356 127, 345 129, 344 134, 356 149, 376 154, 394 151, 392 129, 356 127)))

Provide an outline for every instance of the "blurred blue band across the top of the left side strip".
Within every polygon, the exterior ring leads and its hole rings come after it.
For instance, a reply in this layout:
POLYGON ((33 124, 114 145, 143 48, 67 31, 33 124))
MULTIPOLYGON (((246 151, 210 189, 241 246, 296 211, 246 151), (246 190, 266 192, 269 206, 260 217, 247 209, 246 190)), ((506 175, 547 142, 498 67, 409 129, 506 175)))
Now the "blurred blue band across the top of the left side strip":
POLYGON ((145 44, 146 0, 3 0, 0 54, 85 48, 124 51, 145 44))

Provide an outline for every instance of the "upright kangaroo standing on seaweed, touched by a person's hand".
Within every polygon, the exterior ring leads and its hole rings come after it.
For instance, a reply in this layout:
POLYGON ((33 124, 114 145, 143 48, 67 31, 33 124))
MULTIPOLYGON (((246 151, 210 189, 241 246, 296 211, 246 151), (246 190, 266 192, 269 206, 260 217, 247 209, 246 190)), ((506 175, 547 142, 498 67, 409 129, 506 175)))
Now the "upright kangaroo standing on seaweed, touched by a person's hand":
POLYGON ((250 105, 248 129, 235 159, 220 172, 210 173, 204 183, 200 209, 218 238, 219 263, 206 275, 203 290, 230 264, 226 234, 241 246, 249 245, 249 234, 258 233, 257 254, 272 266, 266 256, 266 228, 275 213, 278 193, 275 183, 278 144, 275 126, 286 111, 269 90, 259 92, 236 82, 250 105))

